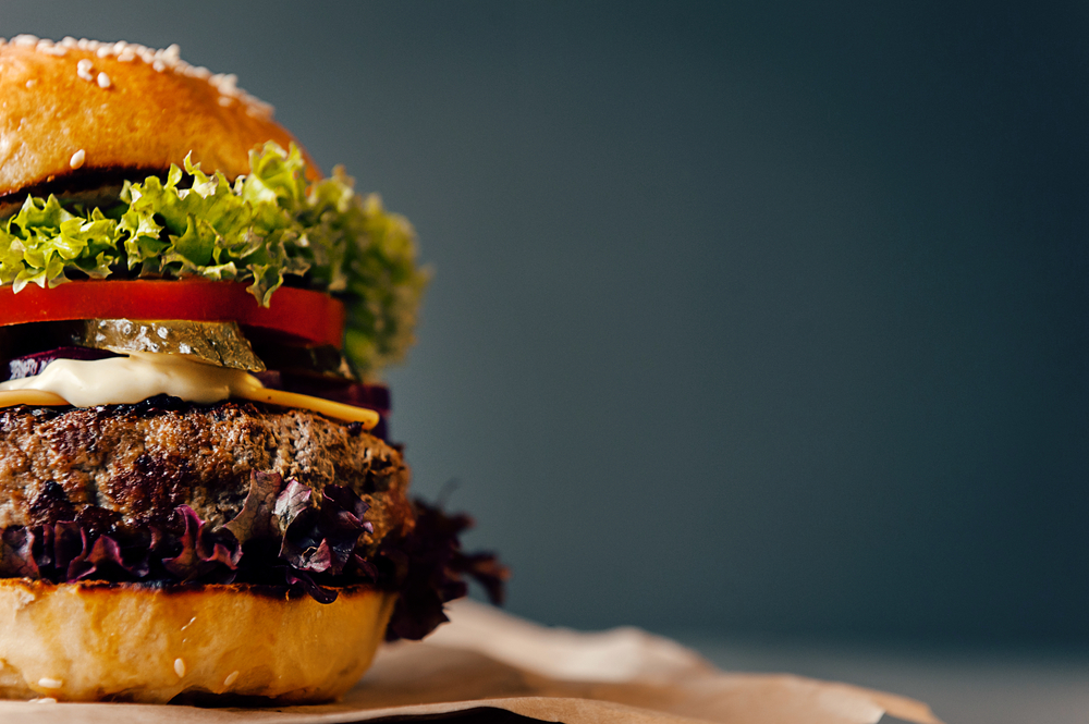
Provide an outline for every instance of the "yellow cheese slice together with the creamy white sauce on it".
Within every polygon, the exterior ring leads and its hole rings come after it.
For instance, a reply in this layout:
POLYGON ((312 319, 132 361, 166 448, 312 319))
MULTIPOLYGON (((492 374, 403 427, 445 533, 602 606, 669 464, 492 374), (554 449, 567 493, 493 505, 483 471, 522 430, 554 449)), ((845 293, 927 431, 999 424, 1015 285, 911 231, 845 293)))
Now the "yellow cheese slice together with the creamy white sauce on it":
POLYGON ((132 405, 168 394, 201 404, 228 397, 302 407, 370 429, 378 425, 372 409, 295 392, 269 390, 253 375, 216 367, 183 355, 132 352, 108 359, 56 359, 40 375, 0 383, 0 407, 12 405, 132 405))

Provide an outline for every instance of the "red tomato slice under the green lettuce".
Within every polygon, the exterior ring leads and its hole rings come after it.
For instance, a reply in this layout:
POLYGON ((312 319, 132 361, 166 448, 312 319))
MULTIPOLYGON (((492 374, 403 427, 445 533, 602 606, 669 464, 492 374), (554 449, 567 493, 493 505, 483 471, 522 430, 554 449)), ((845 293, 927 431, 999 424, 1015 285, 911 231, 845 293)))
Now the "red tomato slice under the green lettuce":
POLYGON ((268 307, 240 282, 101 280, 65 282, 51 290, 0 289, 0 327, 71 319, 188 319, 281 332, 338 349, 344 339, 344 305, 322 292, 281 286, 268 307))

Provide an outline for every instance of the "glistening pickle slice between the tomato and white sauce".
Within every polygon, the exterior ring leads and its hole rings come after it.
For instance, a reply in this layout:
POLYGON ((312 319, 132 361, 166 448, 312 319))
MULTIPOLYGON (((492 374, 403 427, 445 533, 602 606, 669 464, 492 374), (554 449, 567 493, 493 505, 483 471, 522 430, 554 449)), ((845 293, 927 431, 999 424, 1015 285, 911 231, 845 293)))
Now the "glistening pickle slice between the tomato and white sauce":
POLYGON ((112 352, 159 352, 188 355, 220 367, 264 372, 236 322, 187 320, 87 319, 75 342, 112 352))

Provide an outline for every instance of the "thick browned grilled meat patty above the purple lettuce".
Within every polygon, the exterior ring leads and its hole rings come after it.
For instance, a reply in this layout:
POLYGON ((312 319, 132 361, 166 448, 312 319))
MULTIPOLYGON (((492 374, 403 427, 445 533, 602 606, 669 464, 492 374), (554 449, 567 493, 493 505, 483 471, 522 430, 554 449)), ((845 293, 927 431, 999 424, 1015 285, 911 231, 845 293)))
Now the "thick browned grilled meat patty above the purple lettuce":
POLYGON ((375 530, 360 539, 365 545, 413 525, 401 454, 357 424, 164 396, 0 409, 0 528, 72 519, 103 529, 161 527, 182 504, 219 526, 241 511, 254 470, 315 491, 352 488, 370 505, 375 530))

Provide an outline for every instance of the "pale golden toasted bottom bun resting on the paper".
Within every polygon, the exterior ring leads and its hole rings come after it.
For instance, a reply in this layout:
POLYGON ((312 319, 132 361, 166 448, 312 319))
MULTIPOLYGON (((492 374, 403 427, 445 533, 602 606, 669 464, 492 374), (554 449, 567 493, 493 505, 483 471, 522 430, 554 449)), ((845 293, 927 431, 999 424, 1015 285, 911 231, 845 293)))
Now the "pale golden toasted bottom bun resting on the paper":
POLYGON ((365 587, 321 604, 246 585, 0 579, 0 697, 328 701, 370 665, 394 600, 365 587))

